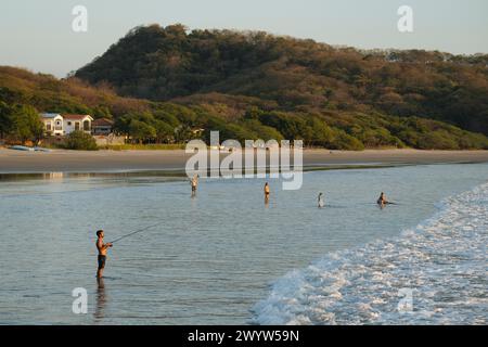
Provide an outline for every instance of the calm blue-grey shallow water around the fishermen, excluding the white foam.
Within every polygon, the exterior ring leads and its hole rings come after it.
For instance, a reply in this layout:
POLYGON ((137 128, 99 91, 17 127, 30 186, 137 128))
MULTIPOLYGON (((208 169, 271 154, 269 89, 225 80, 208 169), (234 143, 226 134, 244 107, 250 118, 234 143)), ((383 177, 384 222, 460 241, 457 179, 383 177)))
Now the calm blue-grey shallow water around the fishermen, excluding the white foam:
POLYGON ((249 323, 277 279, 400 234, 487 168, 313 171, 299 191, 269 180, 265 204, 259 179, 201 180, 195 196, 187 179, 146 172, 1 179, 0 324, 249 323), (401 205, 378 209, 382 191, 401 205), (93 280, 97 230, 112 241, 156 224, 116 243, 106 278, 93 280), (87 288, 90 314, 72 313, 75 287, 87 288))

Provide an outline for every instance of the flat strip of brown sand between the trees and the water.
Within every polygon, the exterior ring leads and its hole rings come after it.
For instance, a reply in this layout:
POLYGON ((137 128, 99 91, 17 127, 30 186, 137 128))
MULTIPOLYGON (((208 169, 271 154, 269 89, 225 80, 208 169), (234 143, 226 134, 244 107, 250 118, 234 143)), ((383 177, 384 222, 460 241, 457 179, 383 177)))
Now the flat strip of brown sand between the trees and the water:
MULTIPOLYGON (((190 156, 184 151, 54 150, 43 153, 2 149, 0 150, 0 174, 183 170, 190 156)), ((484 162, 488 162, 488 151, 304 151, 305 167, 484 162)))

